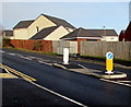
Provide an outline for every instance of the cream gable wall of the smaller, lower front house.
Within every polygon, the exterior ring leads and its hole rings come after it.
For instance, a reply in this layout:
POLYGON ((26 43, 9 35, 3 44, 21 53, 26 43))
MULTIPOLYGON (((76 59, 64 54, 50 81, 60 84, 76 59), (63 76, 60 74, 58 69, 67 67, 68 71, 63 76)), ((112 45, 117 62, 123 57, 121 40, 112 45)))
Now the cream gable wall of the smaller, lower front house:
POLYGON ((67 34, 69 34, 69 31, 66 29, 63 26, 60 26, 44 39, 45 40, 61 40, 60 38, 67 34))

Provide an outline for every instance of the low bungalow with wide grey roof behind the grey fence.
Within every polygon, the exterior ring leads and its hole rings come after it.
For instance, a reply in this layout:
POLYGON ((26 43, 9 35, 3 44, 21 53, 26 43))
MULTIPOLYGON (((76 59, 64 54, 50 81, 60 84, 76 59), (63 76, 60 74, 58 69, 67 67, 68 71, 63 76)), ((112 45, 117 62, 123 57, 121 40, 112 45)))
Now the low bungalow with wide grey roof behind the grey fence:
POLYGON ((115 29, 84 29, 76 28, 72 33, 61 37, 62 40, 106 40, 118 41, 118 35, 115 29))

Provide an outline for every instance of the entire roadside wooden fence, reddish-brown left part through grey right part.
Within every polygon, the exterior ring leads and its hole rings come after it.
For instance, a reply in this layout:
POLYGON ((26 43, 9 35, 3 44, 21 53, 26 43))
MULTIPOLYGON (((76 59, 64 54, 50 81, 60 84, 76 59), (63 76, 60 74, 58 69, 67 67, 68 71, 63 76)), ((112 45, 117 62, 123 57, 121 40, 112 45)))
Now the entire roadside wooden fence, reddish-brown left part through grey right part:
MULTIPOLYGON (((27 50, 43 52, 57 52, 62 55, 63 48, 72 48, 71 41, 57 40, 21 40, 11 39, 11 46, 27 50)), ((107 51, 111 51, 116 59, 131 60, 131 41, 80 41, 76 49, 81 56, 105 57, 107 51)), ((73 47, 74 48, 74 47, 73 47)))

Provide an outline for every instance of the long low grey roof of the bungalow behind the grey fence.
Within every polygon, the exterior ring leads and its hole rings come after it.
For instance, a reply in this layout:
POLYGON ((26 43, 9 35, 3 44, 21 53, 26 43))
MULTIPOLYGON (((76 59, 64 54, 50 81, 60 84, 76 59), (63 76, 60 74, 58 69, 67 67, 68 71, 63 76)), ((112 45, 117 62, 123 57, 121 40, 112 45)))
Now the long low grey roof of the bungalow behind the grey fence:
POLYGON ((78 37, 102 37, 102 36, 118 36, 115 29, 84 29, 82 27, 76 28, 72 33, 61 37, 61 39, 70 39, 78 37))

